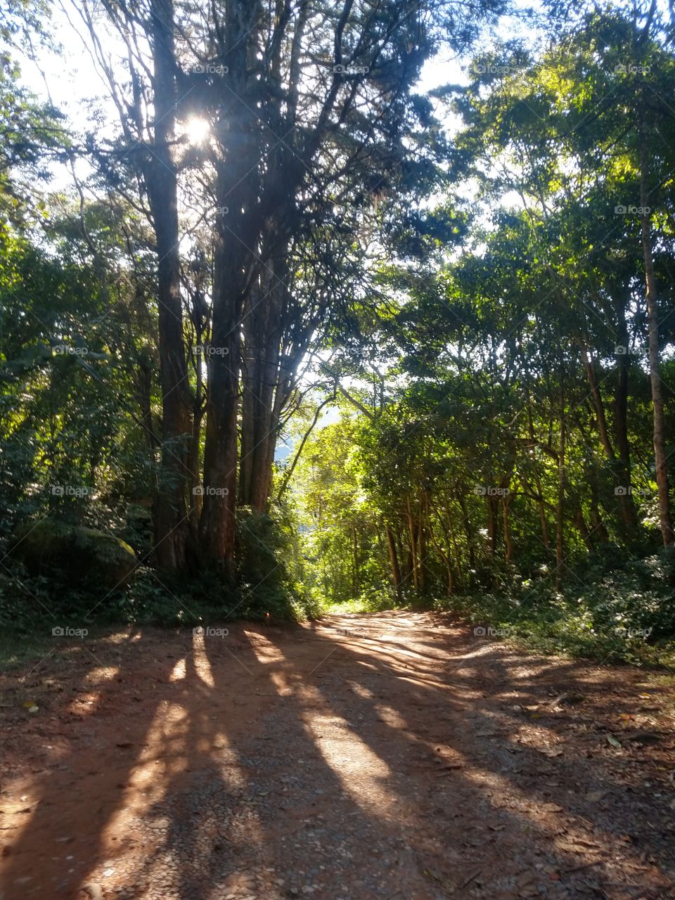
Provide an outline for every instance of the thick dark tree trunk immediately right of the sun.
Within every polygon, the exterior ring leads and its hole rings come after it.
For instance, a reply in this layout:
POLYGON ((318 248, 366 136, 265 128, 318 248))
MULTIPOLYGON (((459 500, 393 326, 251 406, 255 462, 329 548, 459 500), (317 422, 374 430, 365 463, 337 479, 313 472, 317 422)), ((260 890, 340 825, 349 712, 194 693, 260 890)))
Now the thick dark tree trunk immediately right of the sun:
POLYGON ((229 67, 220 82, 220 119, 213 130, 216 218, 213 253, 211 362, 206 406, 203 507, 199 521, 204 564, 234 574, 237 509, 239 340, 242 308, 257 277, 259 229, 255 214, 262 153, 260 120, 248 96, 259 4, 223 4, 218 47, 229 67))

